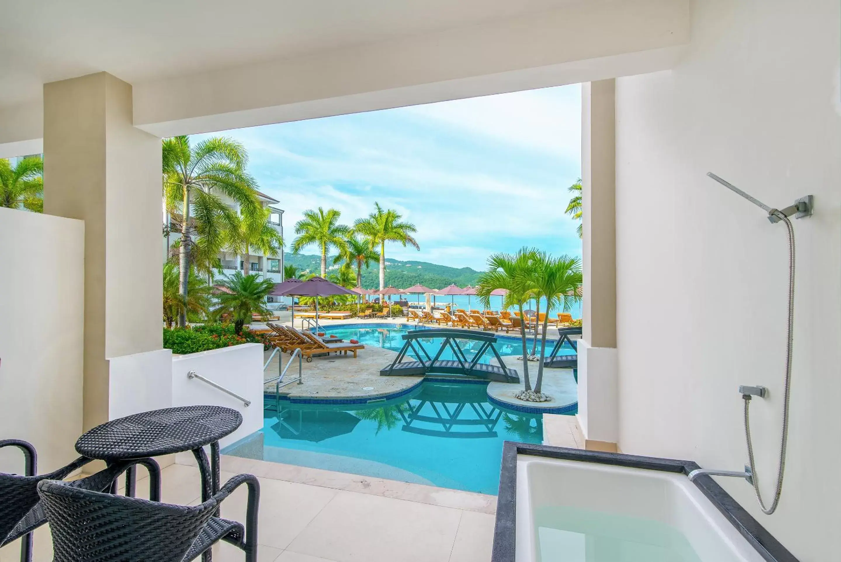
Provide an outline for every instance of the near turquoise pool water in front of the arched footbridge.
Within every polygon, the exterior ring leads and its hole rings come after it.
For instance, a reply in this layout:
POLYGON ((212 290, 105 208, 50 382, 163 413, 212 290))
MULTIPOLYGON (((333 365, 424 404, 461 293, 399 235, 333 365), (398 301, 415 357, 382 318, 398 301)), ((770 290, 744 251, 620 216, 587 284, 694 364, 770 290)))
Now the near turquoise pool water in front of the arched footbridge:
POLYGON ((223 453, 496 495, 503 442, 542 443, 542 415, 490 404, 486 386, 427 378, 395 400, 279 412, 272 398, 262 431, 223 453))

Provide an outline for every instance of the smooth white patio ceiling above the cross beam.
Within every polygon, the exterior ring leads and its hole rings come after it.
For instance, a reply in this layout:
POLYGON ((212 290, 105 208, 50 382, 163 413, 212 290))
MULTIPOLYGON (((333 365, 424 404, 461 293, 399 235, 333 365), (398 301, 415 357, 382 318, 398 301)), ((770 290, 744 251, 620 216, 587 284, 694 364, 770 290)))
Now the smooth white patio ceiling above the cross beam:
MULTIPOLYGON (((590 3, 598 0, 590 0, 590 3)), ((126 82, 306 56, 588 0, 0 0, 0 106, 107 71, 126 82)))

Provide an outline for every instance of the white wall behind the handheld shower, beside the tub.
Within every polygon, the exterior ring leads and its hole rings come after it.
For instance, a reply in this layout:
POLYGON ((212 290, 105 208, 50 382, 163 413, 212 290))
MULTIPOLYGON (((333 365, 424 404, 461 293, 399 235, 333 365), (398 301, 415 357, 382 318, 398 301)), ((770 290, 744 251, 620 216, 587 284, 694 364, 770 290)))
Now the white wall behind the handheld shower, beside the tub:
POLYGON ((764 384, 752 423, 773 489, 785 345, 785 226, 795 222, 791 431, 780 508, 717 479, 802 562, 838 559, 841 480, 841 100, 836 0, 696 3, 674 70, 616 83, 619 446, 741 469, 738 384, 764 384))

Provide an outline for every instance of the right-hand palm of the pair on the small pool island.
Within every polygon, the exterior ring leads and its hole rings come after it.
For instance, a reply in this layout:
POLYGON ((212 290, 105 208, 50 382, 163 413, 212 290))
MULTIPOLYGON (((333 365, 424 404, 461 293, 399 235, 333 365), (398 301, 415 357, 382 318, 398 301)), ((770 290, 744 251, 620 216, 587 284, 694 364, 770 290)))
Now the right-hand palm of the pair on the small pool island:
MULTIPOLYGON (((546 355, 546 329, 549 322, 549 312, 562 308, 570 310, 580 300, 581 289, 581 259, 579 257, 561 256, 554 258, 546 252, 539 252, 535 256, 533 283, 537 299, 546 299, 546 316, 543 318, 543 334, 540 338, 540 362, 537 363, 537 383, 534 391, 541 394, 543 382, 543 358, 546 355)), ((537 326, 535 326, 537 327, 537 326)))

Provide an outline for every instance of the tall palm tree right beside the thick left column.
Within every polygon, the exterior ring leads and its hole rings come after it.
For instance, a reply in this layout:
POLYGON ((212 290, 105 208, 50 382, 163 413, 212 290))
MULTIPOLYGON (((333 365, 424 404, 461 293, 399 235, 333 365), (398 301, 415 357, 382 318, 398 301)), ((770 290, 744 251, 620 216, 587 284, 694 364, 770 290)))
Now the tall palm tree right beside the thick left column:
MULTIPOLYGON (((248 154, 244 146, 225 137, 202 140, 190 146, 187 136, 163 141, 163 191, 167 209, 181 208, 181 247, 179 251, 179 284, 184 302, 188 298, 191 234, 193 226, 202 224, 207 231, 199 232, 208 250, 221 248, 225 225, 232 226, 235 213, 218 194, 225 194, 240 205, 247 214, 259 208, 257 184, 245 167, 248 154), (191 211, 198 218, 191 222, 191 211)), ((186 305, 185 305, 186 306, 186 305)), ((186 317, 178 316, 178 325, 186 324, 186 317)))

